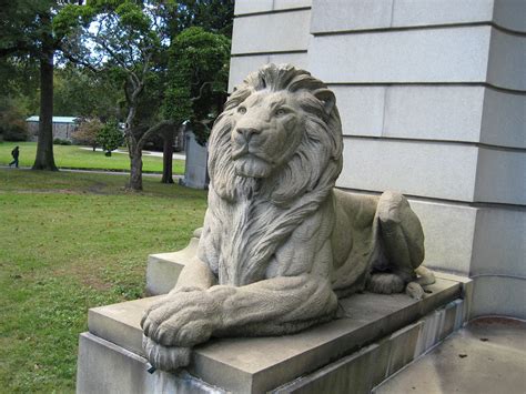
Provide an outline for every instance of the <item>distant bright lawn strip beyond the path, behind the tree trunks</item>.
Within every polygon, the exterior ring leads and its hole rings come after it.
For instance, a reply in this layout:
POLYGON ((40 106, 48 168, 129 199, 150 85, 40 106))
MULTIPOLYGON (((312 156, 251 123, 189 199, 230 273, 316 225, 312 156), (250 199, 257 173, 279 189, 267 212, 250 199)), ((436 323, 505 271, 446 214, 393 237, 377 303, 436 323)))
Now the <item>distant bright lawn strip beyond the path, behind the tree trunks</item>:
MULTIPOLYGON (((12 161, 11 151, 20 147, 20 165, 32 166, 37 154, 37 142, 0 142, 0 165, 7 165, 12 161)), ((113 153, 107 158, 103 152, 93 152, 81 149, 79 145, 53 145, 54 163, 63 169, 90 169, 129 171, 130 159, 128 154, 113 153)), ((162 172, 162 158, 142 156, 144 172, 162 172)), ((184 173, 184 161, 173 161, 173 173, 184 173)))

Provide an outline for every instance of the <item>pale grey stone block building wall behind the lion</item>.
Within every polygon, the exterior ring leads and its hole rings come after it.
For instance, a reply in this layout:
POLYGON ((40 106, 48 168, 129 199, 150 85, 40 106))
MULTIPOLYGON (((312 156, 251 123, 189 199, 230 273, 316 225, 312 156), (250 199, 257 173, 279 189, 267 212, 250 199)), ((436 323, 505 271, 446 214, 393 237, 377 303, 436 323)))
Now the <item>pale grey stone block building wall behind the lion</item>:
POLYGON ((472 316, 526 317, 526 1, 237 0, 230 89, 266 62, 336 93, 337 186, 398 190, 472 316))

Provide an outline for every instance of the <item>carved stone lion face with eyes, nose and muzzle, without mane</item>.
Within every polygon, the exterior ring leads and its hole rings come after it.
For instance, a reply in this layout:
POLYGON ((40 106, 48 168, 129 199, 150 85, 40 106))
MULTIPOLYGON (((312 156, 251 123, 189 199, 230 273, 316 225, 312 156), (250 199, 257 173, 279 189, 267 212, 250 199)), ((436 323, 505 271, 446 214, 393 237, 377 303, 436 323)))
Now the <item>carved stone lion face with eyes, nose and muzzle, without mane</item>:
POLYGON ((253 93, 232 118, 232 161, 240 176, 269 178, 302 142, 304 115, 294 93, 253 93))

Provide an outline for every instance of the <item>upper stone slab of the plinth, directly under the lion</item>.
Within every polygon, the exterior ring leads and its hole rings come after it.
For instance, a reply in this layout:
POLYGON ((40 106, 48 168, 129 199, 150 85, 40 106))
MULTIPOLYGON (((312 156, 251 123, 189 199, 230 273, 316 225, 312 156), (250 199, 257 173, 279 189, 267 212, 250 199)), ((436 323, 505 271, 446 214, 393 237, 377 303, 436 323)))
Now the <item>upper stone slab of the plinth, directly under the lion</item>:
MULTIPOLYGON (((454 276, 437 279, 427 290, 432 293, 419 302, 404 294, 366 293, 343 299, 340 309, 346 317, 294 335, 213 340, 195 348, 189 371, 208 384, 227 391, 260 393, 275 388, 391 335, 457 299, 462 291, 454 276)), ((142 355, 141 311, 155 300, 158 297, 93 309, 89 314, 90 332, 142 355)), ((416 342, 412 346, 416 348, 416 342)), ((403 360, 404 354, 401 353, 403 360)))

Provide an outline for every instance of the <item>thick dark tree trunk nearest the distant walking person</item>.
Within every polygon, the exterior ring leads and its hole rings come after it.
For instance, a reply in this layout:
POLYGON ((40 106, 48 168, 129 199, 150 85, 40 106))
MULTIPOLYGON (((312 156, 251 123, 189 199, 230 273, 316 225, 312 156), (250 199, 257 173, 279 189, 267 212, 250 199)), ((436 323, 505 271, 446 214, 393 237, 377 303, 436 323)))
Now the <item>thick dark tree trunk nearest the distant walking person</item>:
MULTIPOLYGON (((45 34, 45 33, 44 33, 45 34)), ((45 36, 40 58, 39 141, 33 170, 58 171, 53 158, 53 49, 45 36)))

